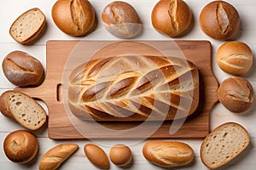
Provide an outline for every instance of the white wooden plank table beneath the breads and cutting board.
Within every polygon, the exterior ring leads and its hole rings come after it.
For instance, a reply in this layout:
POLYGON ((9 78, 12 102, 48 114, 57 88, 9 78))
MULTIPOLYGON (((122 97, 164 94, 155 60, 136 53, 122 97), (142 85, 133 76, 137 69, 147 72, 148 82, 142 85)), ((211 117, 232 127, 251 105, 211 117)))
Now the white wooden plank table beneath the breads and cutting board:
MULTIPOLYGON (((110 0, 91 0, 90 1, 94 8, 96 9, 96 14, 99 19, 99 24, 96 28, 96 31, 92 32, 87 37, 69 37, 63 32, 61 32, 54 24, 51 18, 51 7, 55 3, 54 0, 1 0, 0 5, 0 61, 4 56, 9 54, 14 50, 22 50, 28 54, 32 54, 36 58, 38 58, 42 64, 46 65, 45 61, 45 44, 48 40, 115 40, 117 38, 110 35, 102 26, 102 22, 100 20, 100 15, 102 9, 110 2, 110 0), (38 7, 40 8, 47 17, 47 30, 44 33, 44 36, 41 37, 35 44, 25 46, 20 45, 15 42, 15 40, 9 36, 9 27, 13 23, 13 21, 27 9, 38 7)), ((154 7, 154 4, 158 2, 158 0, 127 0, 126 2, 131 3, 136 9, 137 13, 143 20, 144 32, 141 37, 138 39, 142 40, 170 40, 169 37, 165 37, 160 33, 154 31, 151 26, 150 14, 151 10, 154 7)), ((218 68, 215 55, 216 51, 223 42, 213 40, 210 37, 207 37, 200 29, 199 26, 199 14, 201 12, 201 8, 203 8, 209 0, 185 0, 186 3, 189 4, 189 7, 192 9, 194 18, 195 18, 195 26, 192 31, 189 32, 185 37, 177 38, 178 40, 209 40, 212 42, 212 70, 215 76, 218 79, 218 82, 222 82, 225 78, 230 77, 230 75, 224 73, 218 68)), ((241 15, 241 36, 236 40, 241 42, 246 42, 252 49, 253 54, 256 54, 256 1, 254 0, 229 0, 229 3, 233 4, 241 15)), ((254 60, 255 61, 255 60, 254 60)), ((255 64, 253 64, 255 65, 255 64)), ((256 87, 256 66, 253 66, 252 70, 245 75, 252 84, 253 88, 256 87)), ((3 70, 0 71, 0 94, 2 94, 5 90, 15 88, 3 75, 3 70)), ((43 103, 41 103, 44 105, 43 103)), ((46 109, 46 106, 44 105, 46 109)), ((248 132, 251 136, 251 145, 249 148, 239 156, 236 161, 232 161, 228 166, 223 167, 222 169, 255 169, 255 158, 256 158, 256 106, 253 105, 251 111, 248 111, 247 114, 244 115, 236 115, 227 111, 223 105, 216 105, 211 113, 211 129, 217 127, 218 125, 224 122, 238 122, 244 127, 247 128, 248 132)), ((42 128, 37 132, 33 132, 38 137, 39 142, 39 152, 38 156, 31 163, 26 165, 18 165, 7 159, 7 157, 3 153, 3 140, 4 138, 12 131, 17 129, 23 129, 20 125, 15 122, 10 121, 8 118, 4 117, 0 114, 0 168, 1 169, 38 169, 38 162, 40 161, 40 157, 43 156, 44 152, 49 150, 51 147, 56 144, 73 142, 79 144, 80 149, 70 158, 68 159, 62 166, 61 169, 96 169, 90 161, 84 156, 84 144, 90 143, 90 140, 52 140, 48 138, 47 128, 42 128)), ((177 139, 179 141, 183 141, 192 146, 195 150, 195 161, 189 167, 181 167, 179 169, 207 169, 202 163, 200 159, 200 145, 201 139, 177 139)), ((134 155, 133 165, 129 169, 160 169, 160 167, 155 167, 154 165, 148 163, 143 157, 142 147, 145 141, 140 141, 136 139, 98 139, 94 140, 98 144, 101 144, 103 150, 108 153, 110 149, 109 146, 113 144, 123 143, 130 145, 131 150, 134 155)), ((119 169, 119 167, 111 164, 111 169, 119 169)))

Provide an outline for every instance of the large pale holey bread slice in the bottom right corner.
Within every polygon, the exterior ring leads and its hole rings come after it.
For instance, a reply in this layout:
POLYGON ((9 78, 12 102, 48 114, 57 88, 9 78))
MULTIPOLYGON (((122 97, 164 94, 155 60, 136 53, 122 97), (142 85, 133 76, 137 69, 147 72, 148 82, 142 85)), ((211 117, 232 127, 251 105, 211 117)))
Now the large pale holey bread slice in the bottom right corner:
POLYGON ((250 143, 247 130, 236 122, 224 123, 207 135, 201 144, 201 161, 210 169, 228 163, 250 143))

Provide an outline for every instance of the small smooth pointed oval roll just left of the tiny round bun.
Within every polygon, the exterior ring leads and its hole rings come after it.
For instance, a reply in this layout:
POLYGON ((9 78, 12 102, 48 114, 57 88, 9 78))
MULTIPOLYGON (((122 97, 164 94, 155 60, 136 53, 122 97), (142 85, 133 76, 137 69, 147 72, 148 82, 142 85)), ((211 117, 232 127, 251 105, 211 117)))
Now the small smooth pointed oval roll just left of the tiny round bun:
POLYGON ((110 164, 108 161, 108 156, 101 147, 97 146, 96 144, 85 144, 84 153, 89 161, 96 167, 109 169, 110 164))

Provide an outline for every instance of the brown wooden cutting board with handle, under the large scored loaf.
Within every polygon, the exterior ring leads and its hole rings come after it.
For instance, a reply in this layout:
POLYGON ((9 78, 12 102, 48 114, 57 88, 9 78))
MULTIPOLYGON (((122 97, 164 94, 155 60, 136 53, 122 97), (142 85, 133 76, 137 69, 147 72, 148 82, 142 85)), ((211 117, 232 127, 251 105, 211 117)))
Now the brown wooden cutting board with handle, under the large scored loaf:
POLYGON ((46 77, 37 88, 17 88, 45 102, 50 139, 169 139, 204 138, 209 133, 210 112, 218 102, 218 82, 212 74, 211 43, 207 41, 49 41, 46 77), (122 54, 185 57, 200 71, 201 102, 186 120, 167 122, 81 121, 67 106, 67 81, 75 67, 90 59, 122 54))

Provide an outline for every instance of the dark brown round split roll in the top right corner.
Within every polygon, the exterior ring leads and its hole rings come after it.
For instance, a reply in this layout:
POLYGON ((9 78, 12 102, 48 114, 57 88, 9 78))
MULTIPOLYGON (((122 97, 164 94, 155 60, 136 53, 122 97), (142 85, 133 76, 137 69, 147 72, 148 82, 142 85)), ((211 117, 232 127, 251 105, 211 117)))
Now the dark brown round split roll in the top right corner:
POLYGON ((239 30, 240 16, 230 3, 213 1, 201 10, 200 26, 207 36, 228 40, 239 30))

